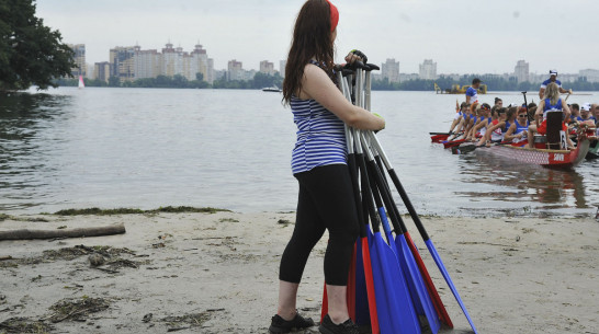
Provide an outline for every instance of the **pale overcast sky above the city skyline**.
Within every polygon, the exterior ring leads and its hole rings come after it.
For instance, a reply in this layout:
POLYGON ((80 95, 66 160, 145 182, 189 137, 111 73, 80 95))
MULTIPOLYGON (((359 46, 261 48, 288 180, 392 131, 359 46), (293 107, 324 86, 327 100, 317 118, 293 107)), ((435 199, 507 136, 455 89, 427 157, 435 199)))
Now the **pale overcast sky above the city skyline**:
MULTIPOLYGON (((577 73, 599 69, 599 1, 596 0, 332 0, 340 12, 337 60, 359 48, 370 62, 387 58, 402 72, 423 59, 438 73, 530 71, 577 73)), ((37 0, 37 16, 63 42, 86 44, 87 61, 109 60, 114 46, 184 50, 201 44, 216 69, 242 61, 285 59, 304 0, 37 0)))

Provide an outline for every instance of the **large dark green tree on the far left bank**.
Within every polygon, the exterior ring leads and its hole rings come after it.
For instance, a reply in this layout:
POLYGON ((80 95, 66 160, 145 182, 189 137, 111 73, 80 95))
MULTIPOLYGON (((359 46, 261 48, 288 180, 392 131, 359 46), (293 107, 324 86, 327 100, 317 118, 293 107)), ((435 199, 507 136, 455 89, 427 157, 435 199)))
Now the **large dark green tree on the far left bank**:
POLYGON ((0 1, 0 91, 45 90, 70 76, 74 51, 35 16, 34 0, 0 1))

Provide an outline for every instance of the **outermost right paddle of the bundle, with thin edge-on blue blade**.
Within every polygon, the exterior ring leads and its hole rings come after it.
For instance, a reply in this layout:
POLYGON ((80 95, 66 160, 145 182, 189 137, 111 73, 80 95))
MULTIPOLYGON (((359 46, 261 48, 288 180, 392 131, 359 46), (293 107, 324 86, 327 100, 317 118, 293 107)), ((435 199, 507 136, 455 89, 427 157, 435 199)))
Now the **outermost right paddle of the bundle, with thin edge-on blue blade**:
POLYGON ((439 270, 443 275, 443 278, 445 279, 445 283, 448 284, 448 286, 450 287, 453 296, 455 297, 455 300, 457 301, 457 303, 462 308, 462 311, 464 312, 464 315, 466 316, 472 330, 474 331, 474 333, 477 333, 476 327, 475 327, 475 325, 474 325, 474 323, 473 323, 473 321, 472 321, 472 319, 470 316, 470 313, 467 312, 466 307, 464 306, 464 303, 462 301, 462 298, 460 297, 460 293, 457 292, 457 289, 455 288, 455 286, 454 286, 452 279, 451 279, 451 277, 450 277, 443 262, 441 261, 441 256, 439 255, 439 252, 434 247, 434 244, 432 243, 432 240, 430 240, 430 237, 427 233, 427 230, 425 229, 423 223, 420 221, 420 218, 418 217, 418 214, 416 214, 416 209, 411 205, 411 201, 410 201, 406 191, 402 186, 402 183, 399 182, 399 178, 397 177, 397 174, 396 174, 395 170, 393 169, 389 160, 387 159, 387 156, 385 154, 381 143, 378 142, 378 139, 372 133, 370 133, 370 137, 371 137, 371 143, 373 145, 373 149, 376 150, 378 152, 378 154, 381 156, 381 158, 383 159, 383 163, 385 164, 385 166, 387 169, 387 173, 389 174, 395 187, 399 192, 399 196, 402 197, 402 200, 404 201, 404 205, 408 209, 408 212, 409 212, 412 221, 415 222, 416 227, 418 228, 418 231, 420 232, 420 235, 422 237, 425 243, 427 244, 427 247, 428 247, 429 252, 431 253, 432 258, 434 260, 434 263, 437 264, 437 266, 439 267, 439 270))

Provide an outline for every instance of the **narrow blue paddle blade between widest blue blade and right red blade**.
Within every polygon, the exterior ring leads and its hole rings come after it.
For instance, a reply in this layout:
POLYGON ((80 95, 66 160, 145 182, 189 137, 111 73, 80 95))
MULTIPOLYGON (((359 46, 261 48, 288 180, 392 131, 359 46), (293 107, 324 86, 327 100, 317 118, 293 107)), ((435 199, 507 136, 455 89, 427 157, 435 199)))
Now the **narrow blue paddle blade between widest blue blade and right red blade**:
POLYGON ((416 292, 416 299, 418 300, 418 303, 420 304, 423 314, 428 320, 430 330, 433 334, 437 334, 441 329, 441 323, 439 321, 437 310, 432 304, 432 298, 430 297, 429 291, 427 290, 427 287, 425 285, 425 280, 422 278, 420 269, 416 264, 416 260, 414 260, 414 255, 411 254, 406 237, 404 234, 398 235, 395 239, 395 243, 397 249, 400 250, 400 253, 398 255, 399 263, 404 268, 404 273, 407 273, 407 275, 409 275, 407 276, 407 279, 412 283, 412 290, 410 291, 416 292))

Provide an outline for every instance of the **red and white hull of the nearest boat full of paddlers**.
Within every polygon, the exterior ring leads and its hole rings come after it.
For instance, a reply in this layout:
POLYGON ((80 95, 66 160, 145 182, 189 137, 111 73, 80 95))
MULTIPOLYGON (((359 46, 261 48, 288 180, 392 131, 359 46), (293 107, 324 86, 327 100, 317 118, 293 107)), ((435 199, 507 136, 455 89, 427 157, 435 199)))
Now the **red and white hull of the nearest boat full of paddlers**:
POLYGON ((589 150, 589 141, 581 140, 575 150, 545 150, 497 145, 488 148, 477 148, 477 154, 493 154, 513 161, 538 164, 552 169, 572 169, 578 165, 589 150))

